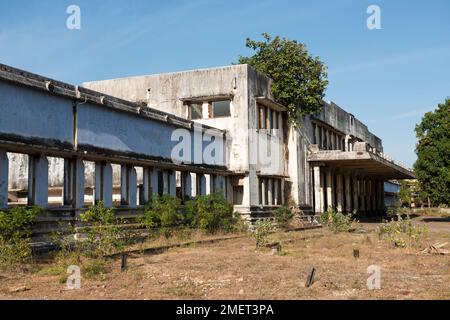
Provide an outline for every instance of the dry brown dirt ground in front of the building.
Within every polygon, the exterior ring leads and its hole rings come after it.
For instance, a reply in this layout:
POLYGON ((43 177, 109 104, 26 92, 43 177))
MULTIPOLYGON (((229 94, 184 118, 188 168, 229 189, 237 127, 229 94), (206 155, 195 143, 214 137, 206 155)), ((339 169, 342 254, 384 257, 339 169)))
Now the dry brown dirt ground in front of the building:
MULTIPOLYGON (((430 232, 422 246, 450 243, 449 221, 423 221, 430 232)), ((250 237, 133 255, 120 272, 82 279, 67 290, 58 276, 0 272, 0 299, 450 299, 450 256, 417 254, 418 248, 392 248, 363 224, 366 233, 334 234, 326 229, 277 233, 280 254, 255 250, 250 237), (353 257, 353 249, 360 257, 353 257), (381 289, 368 290, 367 267, 381 267, 381 289), (314 266, 315 282, 305 287, 314 266)), ((447 249, 450 245, 447 246, 447 249)))

